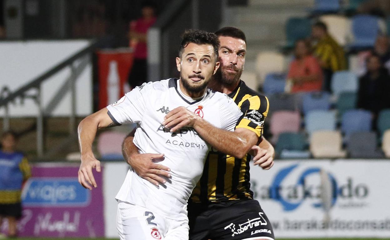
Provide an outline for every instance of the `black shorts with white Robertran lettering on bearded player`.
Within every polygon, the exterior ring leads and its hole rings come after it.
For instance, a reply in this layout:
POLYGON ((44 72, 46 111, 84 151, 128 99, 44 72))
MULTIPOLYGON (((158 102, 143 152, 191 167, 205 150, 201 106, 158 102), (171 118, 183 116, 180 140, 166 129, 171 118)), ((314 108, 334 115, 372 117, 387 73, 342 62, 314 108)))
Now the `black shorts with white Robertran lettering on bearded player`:
POLYGON ((202 205, 188 203, 190 240, 274 240, 268 217, 256 200, 202 205))

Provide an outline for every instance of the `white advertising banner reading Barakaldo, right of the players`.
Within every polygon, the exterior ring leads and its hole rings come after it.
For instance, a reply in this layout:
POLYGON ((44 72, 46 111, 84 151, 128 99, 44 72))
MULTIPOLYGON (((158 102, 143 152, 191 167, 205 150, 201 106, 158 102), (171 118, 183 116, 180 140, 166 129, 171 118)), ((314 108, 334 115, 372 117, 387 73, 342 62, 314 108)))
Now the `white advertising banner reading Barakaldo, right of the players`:
POLYGON ((276 238, 390 237, 390 161, 276 161, 251 189, 276 238), (322 180, 321 180, 322 179, 322 180))

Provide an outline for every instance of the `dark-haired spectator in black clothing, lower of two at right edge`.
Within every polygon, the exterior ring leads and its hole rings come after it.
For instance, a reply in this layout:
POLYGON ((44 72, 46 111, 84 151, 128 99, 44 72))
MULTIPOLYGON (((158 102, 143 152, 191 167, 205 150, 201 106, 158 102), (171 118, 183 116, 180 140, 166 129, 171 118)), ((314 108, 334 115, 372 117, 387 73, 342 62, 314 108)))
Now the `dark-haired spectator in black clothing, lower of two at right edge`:
POLYGON ((390 76, 381 58, 372 54, 367 58, 367 72, 360 78, 358 108, 370 110, 376 116, 390 107, 390 76))

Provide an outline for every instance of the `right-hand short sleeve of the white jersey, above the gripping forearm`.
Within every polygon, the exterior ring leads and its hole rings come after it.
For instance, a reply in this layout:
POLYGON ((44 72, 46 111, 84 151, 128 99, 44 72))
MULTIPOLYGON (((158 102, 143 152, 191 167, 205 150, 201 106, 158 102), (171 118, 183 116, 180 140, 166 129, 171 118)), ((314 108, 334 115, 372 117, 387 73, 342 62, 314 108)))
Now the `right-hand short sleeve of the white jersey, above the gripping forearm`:
POLYGON ((234 127, 237 124, 238 119, 242 116, 242 112, 237 107, 237 104, 234 103, 233 99, 225 95, 225 99, 222 101, 221 109, 221 128, 234 131, 234 127))

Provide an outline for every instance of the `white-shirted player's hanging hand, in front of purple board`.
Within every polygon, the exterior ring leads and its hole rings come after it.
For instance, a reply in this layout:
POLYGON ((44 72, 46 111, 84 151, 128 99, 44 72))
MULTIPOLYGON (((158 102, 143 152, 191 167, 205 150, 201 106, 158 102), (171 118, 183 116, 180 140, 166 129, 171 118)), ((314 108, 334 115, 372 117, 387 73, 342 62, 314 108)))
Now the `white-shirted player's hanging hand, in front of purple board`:
POLYGON ((92 186, 97 187, 92 169, 96 168, 96 172, 100 172, 100 161, 93 154, 81 156, 80 169, 78 170, 78 182, 89 190, 92 186))

